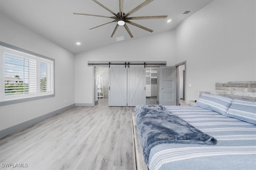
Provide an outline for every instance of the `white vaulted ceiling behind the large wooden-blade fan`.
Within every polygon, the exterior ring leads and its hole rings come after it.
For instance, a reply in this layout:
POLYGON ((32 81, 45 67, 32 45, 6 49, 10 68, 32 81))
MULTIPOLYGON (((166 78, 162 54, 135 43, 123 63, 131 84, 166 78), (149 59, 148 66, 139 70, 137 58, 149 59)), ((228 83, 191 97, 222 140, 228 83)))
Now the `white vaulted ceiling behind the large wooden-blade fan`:
MULTIPOLYGON (((119 0, 98 0, 98 2, 115 13, 119 12, 119 0)), ((124 0, 124 13, 143 2, 144 0, 124 0)), ((168 17, 166 19, 133 20, 135 23, 154 30, 150 33, 127 24, 134 35, 133 38, 130 37, 124 26, 119 26, 114 37, 110 37, 116 22, 90 30, 92 27, 112 21, 111 18, 73 14, 73 12, 77 12, 113 16, 92 0, 0 0, 0 13, 68 51, 80 53, 173 30, 183 20, 210 2, 212 0, 154 0, 130 16, 168 15, 168 17), (181 15, 186 10, 191 10, 191 12, 187 15, 181 15), (167 22, 168 20, 172 21, 167 22), (124 36, 124 40, 117 42, 116 37, 120 36, 124 36), (81 44, 76 45, 76 42, 81 44)))

